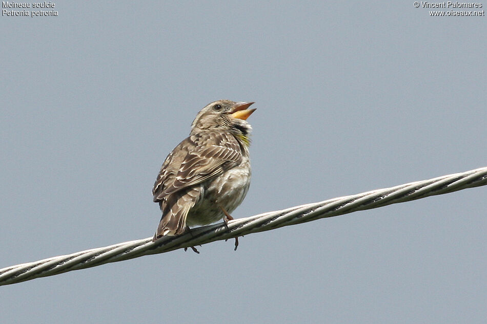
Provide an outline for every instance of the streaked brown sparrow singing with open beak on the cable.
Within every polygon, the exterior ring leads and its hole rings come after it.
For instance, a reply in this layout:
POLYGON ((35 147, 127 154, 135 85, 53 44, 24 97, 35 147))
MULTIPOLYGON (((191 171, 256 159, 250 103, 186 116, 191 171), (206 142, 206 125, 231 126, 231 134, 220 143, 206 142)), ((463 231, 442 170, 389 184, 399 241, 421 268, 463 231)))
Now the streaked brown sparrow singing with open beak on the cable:
POLYGON ((233 220, 230 213, 250 186, 247 118, 256 110, 249 109, 253 103, 217 100, 196 115, 189 136, 169 153, 154 183, 153 200, 162 217, 153 242, 192 226, 233 220))

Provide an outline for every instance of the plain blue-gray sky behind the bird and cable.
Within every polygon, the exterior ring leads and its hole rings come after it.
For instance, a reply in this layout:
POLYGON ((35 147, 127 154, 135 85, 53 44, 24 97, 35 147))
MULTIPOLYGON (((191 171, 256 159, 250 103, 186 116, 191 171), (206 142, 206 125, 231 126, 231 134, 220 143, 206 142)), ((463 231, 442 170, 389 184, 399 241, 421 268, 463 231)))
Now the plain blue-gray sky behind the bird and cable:
MULTIPOLYGON (((256 102, 237 218, 487 166, 486 17, 413 3, 0 17, 0 268, 152 236, 160 164, 217 99, 256 102)), ((483 323, 486 193, 0 287, 0 322, 483 323)))

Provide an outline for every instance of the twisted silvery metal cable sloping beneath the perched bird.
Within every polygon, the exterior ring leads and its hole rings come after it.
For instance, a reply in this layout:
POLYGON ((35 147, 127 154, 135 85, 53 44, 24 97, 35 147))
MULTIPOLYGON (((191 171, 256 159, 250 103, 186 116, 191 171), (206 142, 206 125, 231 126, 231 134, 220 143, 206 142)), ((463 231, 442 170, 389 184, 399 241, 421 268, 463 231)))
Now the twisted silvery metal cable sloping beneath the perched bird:
POLYGON ((0 286, 483 185, 487 185, 487 167, 271 211, 230 221, 228 226, 219 223, 197 227, 179 236, 165 236, 157 242, 152 242, 152 237, 148 237, 19 264, 0 269, 0 286))

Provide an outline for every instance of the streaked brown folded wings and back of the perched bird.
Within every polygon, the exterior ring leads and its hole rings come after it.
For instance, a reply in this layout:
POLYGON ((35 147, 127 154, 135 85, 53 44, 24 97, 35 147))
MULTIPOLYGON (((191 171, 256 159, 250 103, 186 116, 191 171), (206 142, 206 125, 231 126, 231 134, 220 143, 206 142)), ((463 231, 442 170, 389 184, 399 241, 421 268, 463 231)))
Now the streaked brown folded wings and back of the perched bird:
POLYGON ((233 135, 209 132, 192 135, 166 158, 152 190, 154 202, 215 177, 241 160, 242 148, 233 135))

